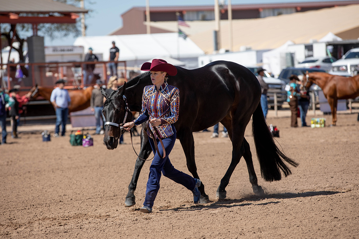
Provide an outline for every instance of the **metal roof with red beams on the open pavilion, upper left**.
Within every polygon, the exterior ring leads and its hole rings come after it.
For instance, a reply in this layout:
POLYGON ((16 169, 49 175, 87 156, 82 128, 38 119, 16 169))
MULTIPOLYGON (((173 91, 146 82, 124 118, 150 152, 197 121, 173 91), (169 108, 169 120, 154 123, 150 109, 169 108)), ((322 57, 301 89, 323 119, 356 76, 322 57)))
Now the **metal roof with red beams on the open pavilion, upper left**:
MULTIPOLYGON (((0 0, 0 23, 30 23, 33 35, 37 35, 39 23, 76 23, 80 16, 77 13, 88 13, 88 10, 53 0, 0 0), (20 14, 49 14, 47 16, 20 16, 20 14), (52 15, 55 14, 55 15, 52 15), (59 15, 62 14, 62 15, 59 15)), ((0 32, 1 35, 1 32, 0 32)), ((10 52, 14 41, 11 39, 10 52)), ((1 46, 1 38, 0 38, 1 46)), ((1 54, 1 47, 0 47, 1 54)), ((10 57, 10 54, 9 54, 10 57)), ((9 61, 9 59, 8 59, 9 61)), ((2 64, 2 59, 0 64, 2 64)))

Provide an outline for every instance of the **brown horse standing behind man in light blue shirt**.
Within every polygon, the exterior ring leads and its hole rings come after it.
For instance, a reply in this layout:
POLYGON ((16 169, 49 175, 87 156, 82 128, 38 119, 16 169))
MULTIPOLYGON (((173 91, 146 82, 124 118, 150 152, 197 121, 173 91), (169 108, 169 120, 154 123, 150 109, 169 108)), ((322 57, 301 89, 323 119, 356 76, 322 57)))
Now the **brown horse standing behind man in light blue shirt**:
MULTIPOLYGON (((71 105, 69 106, 69 113, 79 110, 84 110, 90 106, 90 98, 92 94, 93 87, 87 87, 85 90, 69 90, 69 95, 71 98, 71 105)), ((29 91, 31 93, 30 100, 36 99, 38 96, 44 97, 46 100, 50 101, 51 92, 53 88, 47 88, 42 86, 34 86, 29 91)))

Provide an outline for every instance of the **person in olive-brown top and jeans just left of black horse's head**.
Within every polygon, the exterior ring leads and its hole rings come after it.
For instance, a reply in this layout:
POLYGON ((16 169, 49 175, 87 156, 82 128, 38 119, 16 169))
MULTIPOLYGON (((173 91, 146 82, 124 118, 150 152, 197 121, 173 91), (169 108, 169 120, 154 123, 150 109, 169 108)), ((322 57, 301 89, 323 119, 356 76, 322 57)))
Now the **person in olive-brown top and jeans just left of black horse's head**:
MULTIPOLYGON (((91 111, 95 112, 95 119, 96 119, 96 132, 95 134, 103 134, 103 130, 101 130, 101 125, 106 122, 105 117, 102 114, 103 109, 103 96, 101 94, 102 81, 97 80, 96 85, 94 85, 94 89, 92 90, 91 99, 90 99, 90 106, 91 111), (102 124, 101 124, 102 119, 102 124)), ((103 126, 104 129, 104 126, 103 126)))

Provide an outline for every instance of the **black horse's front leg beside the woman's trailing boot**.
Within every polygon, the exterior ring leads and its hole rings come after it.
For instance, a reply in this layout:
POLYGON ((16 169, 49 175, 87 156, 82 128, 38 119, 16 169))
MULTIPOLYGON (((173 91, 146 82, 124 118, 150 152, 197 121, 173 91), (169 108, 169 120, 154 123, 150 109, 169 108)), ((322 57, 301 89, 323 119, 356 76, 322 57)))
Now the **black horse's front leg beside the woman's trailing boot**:
MULTIPOLYGON (((183 151, 185 152, 188 171, 190 171, 193 177, 200 179, 197 173, 197 166, 195 162, 195 141, 193 139, 191 130, 181 130, 181 132, 178 132, 177 135, 180 139, 183 151)), ((209 197, 204 191, 204 185, 202 181, 199 190, 201 192, 200 203, 208 203, 209 197)))

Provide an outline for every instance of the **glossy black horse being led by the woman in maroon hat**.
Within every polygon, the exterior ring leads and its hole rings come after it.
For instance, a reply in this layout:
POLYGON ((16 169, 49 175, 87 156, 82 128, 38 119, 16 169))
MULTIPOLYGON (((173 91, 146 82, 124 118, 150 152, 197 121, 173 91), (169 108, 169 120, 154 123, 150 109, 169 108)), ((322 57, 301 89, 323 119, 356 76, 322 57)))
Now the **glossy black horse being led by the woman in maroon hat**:
MULTIPOLYGON (((228 185, 229 178, 242 156, 247 163, 253 192, 257 195, 264 193, 262 187, 258 186, 250 145, 244 138, 244 131, 252 115, 253 137, 260 162, 261 175, 264 180, 280 180, 280 171, 283 171, 284 176, 292 173, 285 162, 295 167, 298 164, 286 157, 275 145, 260 104, 261 87, 256 76, 250 70, 227 61, 211 62, 194 70, 187 70, 178 66, 176 68, 177 75, 171 76, 168 80, 169 85, 176 86, 180 90, 180 111, 178 121, 174 126, 177 130, 177 139, 180 139, 186 155, 188 171, 193 177, 199 178, 195 163, 195 145, 192 132, 207 129, 221 122, 228 129, 233 151, 232 162, 221 180, 217 196, 219 199, 226 197, 225 187, 228 185)), ((141 111, 143 89, 151 84, 150 73, 146 72, 131 79, 118 92, 109 97, 101 89, 102 95, 107 98, 103 108, 106 121, 118 124, 130 121, 129 114, 124 119, 126 103, 128 102, 129 110, 141 111)), ((142 124, 142 127, 139 156, 146 159, 152 150, 145 124, 142 124)), ((121 131, 122 129, 118 126, 106 125, 103 141, 108 149, 117 147, 118 138, 123 133, 121 131)), ((129 192, 126 196, 126 207, 135 205, 134 192, 144 162, 140 158, 136 160, 129 192)), ((209 202, 203 183, 199 189, 201 203, 209 202)))

